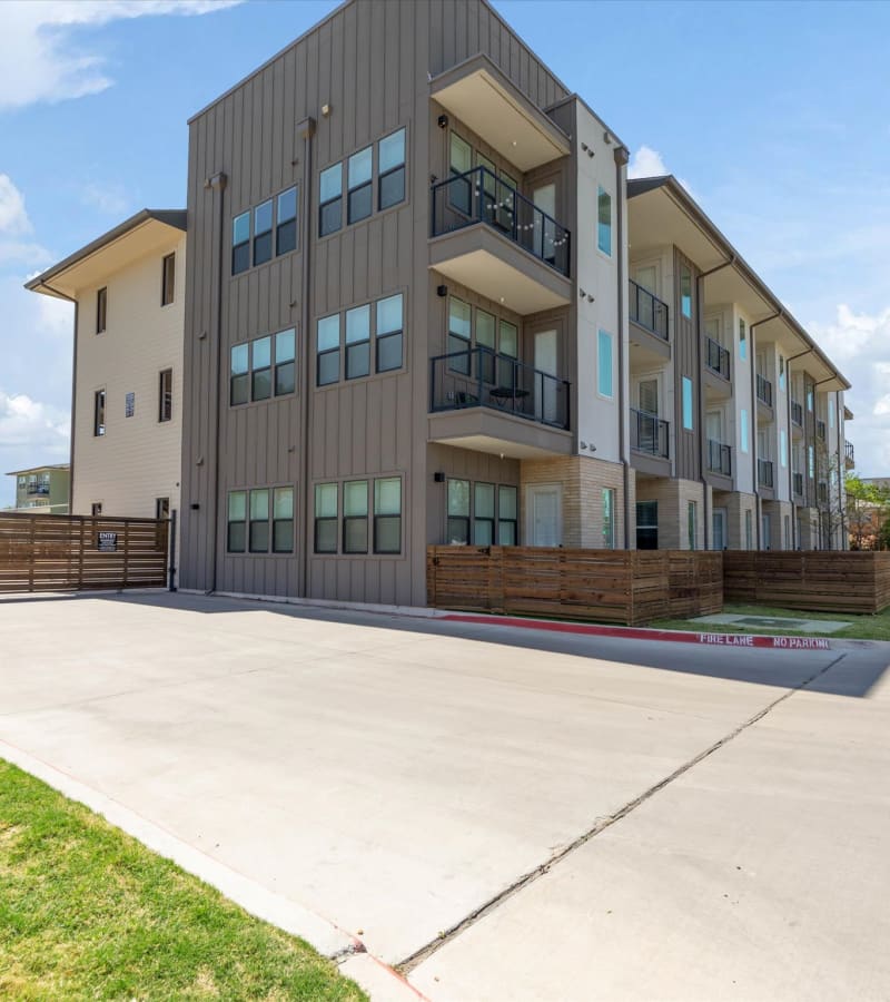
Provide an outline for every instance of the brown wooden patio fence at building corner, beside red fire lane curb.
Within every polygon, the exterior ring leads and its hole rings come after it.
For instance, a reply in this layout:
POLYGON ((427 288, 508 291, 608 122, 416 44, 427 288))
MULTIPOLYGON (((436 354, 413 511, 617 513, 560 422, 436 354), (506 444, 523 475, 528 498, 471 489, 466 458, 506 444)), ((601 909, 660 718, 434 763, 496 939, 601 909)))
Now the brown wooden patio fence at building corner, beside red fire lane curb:
POLYGON ((635 626, 723 609, 721 553, 428 547, 427 602, 439 609, 635 626))

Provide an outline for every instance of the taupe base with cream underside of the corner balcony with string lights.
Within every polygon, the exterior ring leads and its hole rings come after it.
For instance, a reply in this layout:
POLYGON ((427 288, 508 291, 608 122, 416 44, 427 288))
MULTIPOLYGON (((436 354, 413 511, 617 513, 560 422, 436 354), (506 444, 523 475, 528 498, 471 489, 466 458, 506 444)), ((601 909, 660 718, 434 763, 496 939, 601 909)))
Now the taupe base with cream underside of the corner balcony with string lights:
POLYGON ((572 302, 568 278, 485 223, 433 237, 429 267, 522 315, 572 302))

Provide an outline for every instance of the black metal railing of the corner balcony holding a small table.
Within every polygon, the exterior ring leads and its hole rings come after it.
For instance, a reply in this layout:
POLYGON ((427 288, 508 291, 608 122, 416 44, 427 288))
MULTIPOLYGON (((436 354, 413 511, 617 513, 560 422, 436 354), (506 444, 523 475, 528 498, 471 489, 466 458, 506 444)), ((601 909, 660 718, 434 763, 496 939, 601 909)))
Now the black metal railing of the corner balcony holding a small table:
POLYGON ((484 347, 429 362, 431 411, 492 407, 552 428, 568 428, 571 384, 484 347))

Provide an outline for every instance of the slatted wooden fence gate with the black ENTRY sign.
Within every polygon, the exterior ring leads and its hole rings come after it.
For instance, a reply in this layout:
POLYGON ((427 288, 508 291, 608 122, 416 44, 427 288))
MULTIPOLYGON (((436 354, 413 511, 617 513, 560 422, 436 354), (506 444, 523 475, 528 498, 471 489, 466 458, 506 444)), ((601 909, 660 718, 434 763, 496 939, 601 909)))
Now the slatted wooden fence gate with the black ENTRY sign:
POLYGON ((164 588, 167 520, 0 512, 0 592, 164 588))

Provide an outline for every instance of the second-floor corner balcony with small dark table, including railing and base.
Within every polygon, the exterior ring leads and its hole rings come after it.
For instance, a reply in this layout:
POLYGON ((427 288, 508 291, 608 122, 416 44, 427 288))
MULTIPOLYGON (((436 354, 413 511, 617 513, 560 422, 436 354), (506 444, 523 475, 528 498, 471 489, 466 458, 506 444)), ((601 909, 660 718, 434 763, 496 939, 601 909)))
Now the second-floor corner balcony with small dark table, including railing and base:
POLYGON ((429 362, 429 440, 516 459, 568 455, 571 384, 484 347, 429 362))

